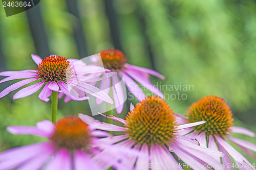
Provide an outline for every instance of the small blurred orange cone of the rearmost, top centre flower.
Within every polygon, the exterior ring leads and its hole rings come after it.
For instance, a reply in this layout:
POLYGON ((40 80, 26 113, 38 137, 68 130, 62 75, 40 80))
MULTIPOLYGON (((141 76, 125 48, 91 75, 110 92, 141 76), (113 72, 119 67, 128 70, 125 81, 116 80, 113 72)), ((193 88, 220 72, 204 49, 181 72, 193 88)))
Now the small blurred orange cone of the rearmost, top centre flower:
POLYGON ((124 54, 119 50, 103 50, 99 52, 104 68, 121 69, 127 62, 124 54))

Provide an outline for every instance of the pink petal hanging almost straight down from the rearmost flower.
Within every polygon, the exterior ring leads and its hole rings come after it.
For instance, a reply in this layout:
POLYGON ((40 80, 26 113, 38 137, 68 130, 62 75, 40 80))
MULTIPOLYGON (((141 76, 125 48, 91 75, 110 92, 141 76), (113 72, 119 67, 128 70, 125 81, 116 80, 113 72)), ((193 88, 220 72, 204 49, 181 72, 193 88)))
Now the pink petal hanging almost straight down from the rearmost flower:
POLYGON ((123 96, 122 84, 118 76, 112 77, 112 91, 113 91, 116 111, 118 114, 120 114, 123 110, 124 96, 123 96))

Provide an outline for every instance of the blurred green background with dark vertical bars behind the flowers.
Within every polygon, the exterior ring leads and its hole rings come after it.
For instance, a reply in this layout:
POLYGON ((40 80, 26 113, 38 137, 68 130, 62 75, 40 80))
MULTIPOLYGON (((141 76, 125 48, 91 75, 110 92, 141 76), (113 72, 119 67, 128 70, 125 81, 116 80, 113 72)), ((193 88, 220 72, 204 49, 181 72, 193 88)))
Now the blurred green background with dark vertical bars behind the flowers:
MULTIPOLYGON (((36 69, 31 54, 81 59, 106 48, 123 51, 130 64, 159 71, 166 79, 152 77, 158 87, 192 85, 162 90, 176 113, 217 95, 230 106, 236 126, 256 132, 255 1, 44 0, 10 17, 0 7, 0 71, 36 69)), ((13 83, 0 84, 0 90, 13 83)), ((51 103, 40 101, 39 92, 13 101, 16 91, 0 99, 1 151, 44 140, 11 135, 7 126, 34 126, 51 117, 51 103)), ((138 101, 129 99, 120 117, 131 102, 138 101)), ((88 101, 61 99, 58 109, 58 117, 91 114, 88 101)), ((256 138, 235 136, 256 144, 256 138)))

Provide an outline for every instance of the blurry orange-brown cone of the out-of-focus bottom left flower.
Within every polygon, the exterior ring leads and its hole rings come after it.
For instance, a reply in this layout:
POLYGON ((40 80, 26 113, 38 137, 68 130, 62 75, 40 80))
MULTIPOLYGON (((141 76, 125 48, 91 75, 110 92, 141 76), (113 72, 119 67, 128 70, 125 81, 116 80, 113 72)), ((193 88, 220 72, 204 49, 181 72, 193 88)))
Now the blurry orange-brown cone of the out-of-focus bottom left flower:
POLYGON ((51 137, 55 147, 68 150, 87 150, 90 145, 88 125, 78 117, 64 117, 56 123, 56 129, 51 137))

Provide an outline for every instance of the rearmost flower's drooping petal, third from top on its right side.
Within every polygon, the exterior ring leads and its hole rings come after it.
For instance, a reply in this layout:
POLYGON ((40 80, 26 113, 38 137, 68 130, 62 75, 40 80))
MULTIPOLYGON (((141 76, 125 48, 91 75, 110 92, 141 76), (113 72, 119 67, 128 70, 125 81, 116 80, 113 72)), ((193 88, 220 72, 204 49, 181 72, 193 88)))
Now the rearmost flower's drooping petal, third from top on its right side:
POLYGON ((123 71, 118 70, 119 74, 123 76, 123 81, 126 85, 126 87, 131 91, 131 93, 135 96, 136 99, 139 101, 142 101, 145 99, 145 94, 141 90, 140 86, 133 81, 129 76, 127 76, 123 71))

